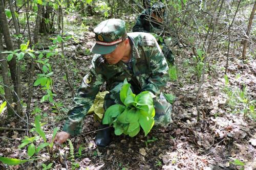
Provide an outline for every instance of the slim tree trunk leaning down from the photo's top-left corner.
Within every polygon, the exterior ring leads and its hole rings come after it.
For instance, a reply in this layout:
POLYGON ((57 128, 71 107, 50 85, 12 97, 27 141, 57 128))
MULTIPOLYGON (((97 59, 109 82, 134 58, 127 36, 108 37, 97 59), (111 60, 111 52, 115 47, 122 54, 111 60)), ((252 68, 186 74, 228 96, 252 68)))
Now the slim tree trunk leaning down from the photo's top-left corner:
MULTIPOLYGON (((8 51, 13 51, 13 44, 12 44, 12 39, 11 39, 11 35, 10 35, 10 31, 9 31, 9 27, 8 27, 8 22, 7 22, 7 18, 5 15, 5 9, 4 9, 4 1, 0 0, 0 25, 2 27, 2 32, 4 34, 4 39, 5 39, 5 44, 7 46, 7 50, 8 51)), ((9 64, 9 68, 10 68, 10 72, 11 72, 11 78, 12 78, 12 83, 14 85, 14 91, 15 91, 15 95, 13 96, 13 102, 17 102, 19 101, 19 96, 17 96, 18 94, 18 89, 17 87, 19 86, 17 84, 17 70, 16 70, 16 56, 13 55, 13 58, 11 59, 11 61, 8 62, 9 64)), ((20 113, 18 113, 20 114, 20 113)))

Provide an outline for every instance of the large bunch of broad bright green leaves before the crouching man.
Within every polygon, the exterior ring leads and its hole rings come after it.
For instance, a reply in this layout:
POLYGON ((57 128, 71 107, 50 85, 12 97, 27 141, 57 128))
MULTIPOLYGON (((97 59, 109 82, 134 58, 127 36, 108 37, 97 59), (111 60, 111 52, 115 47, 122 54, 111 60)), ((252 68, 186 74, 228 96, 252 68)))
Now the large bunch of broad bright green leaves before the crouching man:
POLYGON ((140 127, 145 136, 154 126, 155 108, 153 98, 155 95, 149 91, 143 91, 136 95, 131 90, 131 84, 125 79, 120 91, 120 100, 123 105, 110 106, 102 120, 103 124, 112 125, 116 135, 136 136, 140 127))

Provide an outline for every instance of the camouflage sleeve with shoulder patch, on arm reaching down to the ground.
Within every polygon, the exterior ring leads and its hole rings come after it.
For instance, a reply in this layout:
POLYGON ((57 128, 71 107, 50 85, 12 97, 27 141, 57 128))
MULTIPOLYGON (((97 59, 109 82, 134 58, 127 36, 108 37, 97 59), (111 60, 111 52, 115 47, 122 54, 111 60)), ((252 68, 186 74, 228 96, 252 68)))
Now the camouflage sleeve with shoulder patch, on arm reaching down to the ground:
POLYGON ((84 117, 93 105, 95 96, 103 82, 103 76, 96 73, 92 63, 90 72, 83 78, 83 82, 73 100, 73 107, 68 112, 63 131, 71 135, 81 134, 84 117))

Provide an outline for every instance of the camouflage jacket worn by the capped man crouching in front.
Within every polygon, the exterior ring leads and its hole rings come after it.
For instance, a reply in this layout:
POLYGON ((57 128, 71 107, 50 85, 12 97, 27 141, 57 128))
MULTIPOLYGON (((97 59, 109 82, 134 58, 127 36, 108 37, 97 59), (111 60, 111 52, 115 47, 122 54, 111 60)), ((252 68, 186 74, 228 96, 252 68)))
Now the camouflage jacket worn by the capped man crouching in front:
POLYGON ((128 37, 132 47, 132 67, 122 61, 110 65, 102 55, 94 55, 90 72, 83 78, 63 131, 71 135, 81 133, 83 119, 104 82, 106 90, 110 90, 126 78, 139 91, 160 94, 168 80, 168 66, 156 39, 147 33, 128 33, 128 37))

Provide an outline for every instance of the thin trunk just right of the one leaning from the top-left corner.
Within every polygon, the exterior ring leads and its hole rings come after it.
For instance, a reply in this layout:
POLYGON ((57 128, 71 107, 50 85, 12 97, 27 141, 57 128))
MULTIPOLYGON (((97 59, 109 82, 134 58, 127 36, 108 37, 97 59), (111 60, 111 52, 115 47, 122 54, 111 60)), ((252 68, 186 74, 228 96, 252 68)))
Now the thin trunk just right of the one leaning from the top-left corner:
MULTIPOLYGON (((11 10, 11 14, 12 14, 12 20, 14 23, 14 28, 15 28, 15 32, 16 32, 16 36, 18 36, 20 34, 20 30, 19 30, 19 26, 18 26, 18 20, 17 17, 15 15, 15 11, 13 8, 13 1, 9 0, 9 6, 10 6, 10 10, 11 10)), ((20 44, 22 44, 22 41, 20 41, 20 39, 18 39, 18 47, 20 46, 20 44)), ((20 61, 18 61, 17 63, 17 94, 18 96, 22 96, 22 90, 20 87, 20 61)), ((22 112, 22 106, 20 104, 20 101, 17 100, 17 113, 20 115, 20 113, 22 112)))

